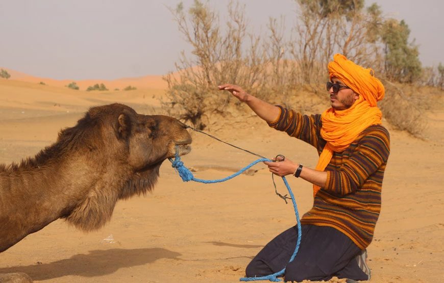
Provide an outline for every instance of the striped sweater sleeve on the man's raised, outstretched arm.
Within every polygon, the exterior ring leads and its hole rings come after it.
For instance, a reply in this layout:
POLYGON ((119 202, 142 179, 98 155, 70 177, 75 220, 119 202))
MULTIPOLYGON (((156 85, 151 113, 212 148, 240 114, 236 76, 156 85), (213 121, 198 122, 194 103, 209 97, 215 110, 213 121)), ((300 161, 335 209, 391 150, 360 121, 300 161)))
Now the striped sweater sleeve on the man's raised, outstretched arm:
POLYGON ((302 115, 282 106, 278 105, 278 107, 281 111, 279 118, 268 125, 318 148, 321 128, 320 115, 302 115))

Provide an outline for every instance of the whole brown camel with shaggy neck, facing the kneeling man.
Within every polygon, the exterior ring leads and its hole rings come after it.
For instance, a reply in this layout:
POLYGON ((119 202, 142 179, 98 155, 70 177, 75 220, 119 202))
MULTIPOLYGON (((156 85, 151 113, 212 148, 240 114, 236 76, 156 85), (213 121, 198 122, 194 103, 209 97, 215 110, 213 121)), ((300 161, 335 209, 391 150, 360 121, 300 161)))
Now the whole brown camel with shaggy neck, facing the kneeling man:
POLYGON ((34 158, 0 164, 0 252, 59 218, 83 231, 105 225, 118 199, 151 191, 162 162, 191 150, 186 128, 121 104, 98 106, 34 158))

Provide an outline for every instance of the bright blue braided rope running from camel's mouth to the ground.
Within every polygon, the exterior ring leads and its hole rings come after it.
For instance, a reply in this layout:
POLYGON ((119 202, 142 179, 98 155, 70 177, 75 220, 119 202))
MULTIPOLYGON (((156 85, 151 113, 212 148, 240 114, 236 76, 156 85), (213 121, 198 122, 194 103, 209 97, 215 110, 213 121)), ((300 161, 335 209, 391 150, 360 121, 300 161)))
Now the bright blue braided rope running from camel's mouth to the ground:
MULTIPOLYGON (((204 183, 204 184, 225 182, 229 179, 232 179, 232 178, 242 174, 245 170, 249 169, 250 167, 252 167, 253 165, 255 165, 259 162, 264 162, 264 161, 273 162, 272 160, 269 160, 267 158, 261 158, 256 161, 253 161, 252 163, 250 163, 246 167, 240 169, 238 172, 236 172, 228 177, 225 177, 222 179, 216 179, 216 180, 203 180, 203 179, 195 178, 193 176, 193 173, 191 173, 191 171, 184 166, 183 162, 180 160, 180 157, 177 153, 176 153, 175 159, 173 160, 173 159, 169 158, 169 161, 172 163, 171 167, 175 168, 179 172, 179 175, 184 182, 194 181, 194 182, 199 182, 199 183, 204 183)), ((291 201, 293 202, 293 208, 294 208, 294 212, 296 215, 296 221, 297 221, 297 225, 298 225, 298 240, 296 242, 296 247, 294 249, 294 252, 291 255, 290 261, 288 262, 288 263, 291 263, 294 260, 296 254, 298 253, 299 245, 301 244, 301 237, 302 237, 301 221, 299 220, 298 205, 296 204, 296 200, 294 199, 294 195, 293 195, 293 192, 291 191, 290 185, 288 185, 287 179, 284 176, 282 177, 282 180, 284 181, 284 184, 287 187, 288 193, 290 194, 291 201)), ((260 276, 260 277, 242 277, 239 280, 240 281, 270 280, 270 281, 278 282, 278 281, 282 281, 282 279, 278 278, 278 276, 283 276, 284 274, 285 274, 285 267, 281 271, 270 274, 270 275, 260 276)))

